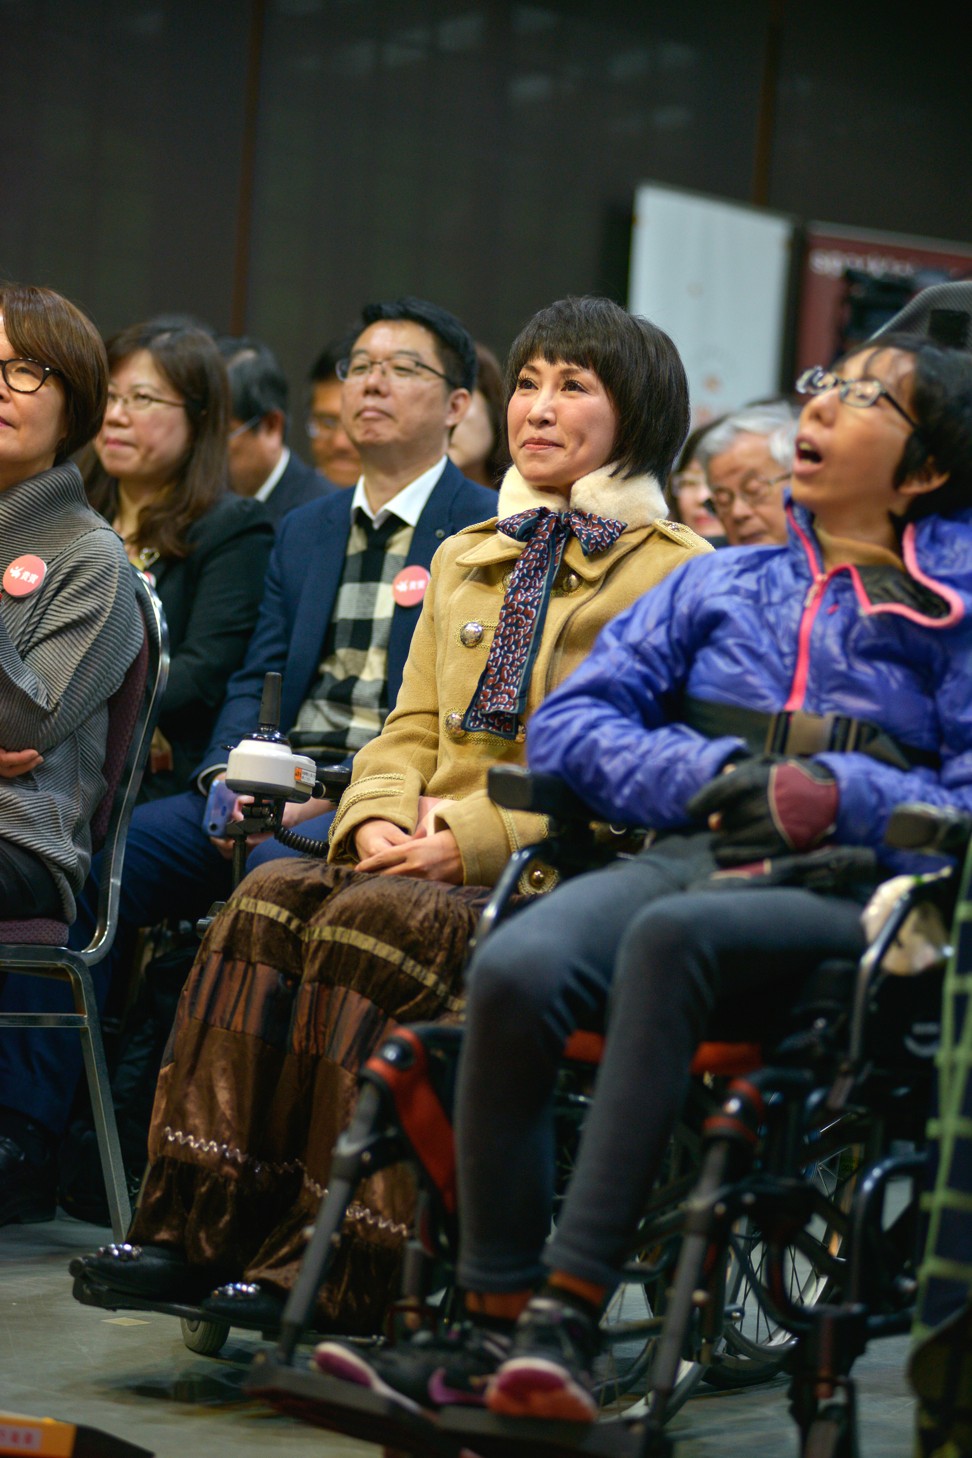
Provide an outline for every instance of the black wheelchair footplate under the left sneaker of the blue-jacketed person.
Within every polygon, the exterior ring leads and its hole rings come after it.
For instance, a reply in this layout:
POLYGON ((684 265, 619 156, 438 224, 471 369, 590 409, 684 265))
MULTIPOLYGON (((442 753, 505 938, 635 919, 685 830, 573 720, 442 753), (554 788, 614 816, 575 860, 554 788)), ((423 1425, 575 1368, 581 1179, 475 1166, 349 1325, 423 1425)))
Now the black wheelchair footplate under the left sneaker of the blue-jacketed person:
POLYGON ((341 1382, 307 1366, 284 1365, 271 1352, 256 1353, 243 1389, 315 1427, 415 1458, 460 1458, 466 1446, 462 1439, 442 1433, 434 1417, 411 1413, 367 1387, 341 1382))

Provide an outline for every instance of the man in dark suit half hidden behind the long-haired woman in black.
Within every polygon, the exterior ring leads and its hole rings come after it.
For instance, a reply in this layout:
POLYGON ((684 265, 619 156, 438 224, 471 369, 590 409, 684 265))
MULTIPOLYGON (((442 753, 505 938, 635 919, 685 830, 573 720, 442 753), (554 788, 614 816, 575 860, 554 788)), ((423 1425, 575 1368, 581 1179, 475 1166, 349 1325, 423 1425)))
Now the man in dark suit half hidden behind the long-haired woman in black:
POLYGON ((232 394, 226 443, 230 486, 239 496, 264 503, 274 526, 296 506, 329 496, 338 487, 296 456, 287 445, 287 376, 277 356, 259 340, 230 334, 217 341, 232 394))

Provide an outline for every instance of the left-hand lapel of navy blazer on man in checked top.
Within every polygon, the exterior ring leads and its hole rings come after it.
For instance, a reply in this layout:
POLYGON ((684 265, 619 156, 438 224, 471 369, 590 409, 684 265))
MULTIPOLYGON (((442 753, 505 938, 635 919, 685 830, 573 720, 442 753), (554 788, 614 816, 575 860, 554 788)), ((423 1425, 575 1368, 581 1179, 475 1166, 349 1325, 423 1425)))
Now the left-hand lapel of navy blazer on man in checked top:
MULTIPOLYGON (((316 531, 291 532, 287 566, 300 586, 293 598, 291 637, 281 694, 281 723, 293 723, 321 666, 321 650, 341 585, 351 531, 353 491, 321 499, 316 531)), ((312 503, 318 506, 318 503, 312 503)), ((297 518, 305 516, 303 507, 297 518)), ((290 518, 293 522, 293 518, 290 518)), ((300 521, 303 526, 303 521, 300 521)), ((309 523, 307 523, 309 525, 309 523)))

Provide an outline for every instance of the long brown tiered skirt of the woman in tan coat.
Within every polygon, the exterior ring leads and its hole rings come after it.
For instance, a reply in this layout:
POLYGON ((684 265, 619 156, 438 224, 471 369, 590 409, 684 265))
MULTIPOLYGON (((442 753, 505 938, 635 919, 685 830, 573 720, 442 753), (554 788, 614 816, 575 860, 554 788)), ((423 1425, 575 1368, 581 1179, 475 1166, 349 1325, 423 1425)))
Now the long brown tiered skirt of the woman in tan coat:
MULTIPOLYGON (((130 1238, 290 1289, 361 1063, 395 1024, 459 1016, 487 897, 309 859, 246 876, 182 991, 130 1238)), ((380 1330, 412 1209, 404 1166, 361 1184, 318 1299, 328 1330, 380 1330)))

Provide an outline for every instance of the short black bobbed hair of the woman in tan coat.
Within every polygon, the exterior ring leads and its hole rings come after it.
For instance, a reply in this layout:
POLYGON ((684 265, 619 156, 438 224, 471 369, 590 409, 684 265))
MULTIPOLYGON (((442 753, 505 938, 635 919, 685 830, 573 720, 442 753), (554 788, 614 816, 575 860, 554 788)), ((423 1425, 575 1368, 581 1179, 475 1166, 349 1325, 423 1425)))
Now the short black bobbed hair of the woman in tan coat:
POLYGON ((688 433, 688 381, 679 351, 656 324, 611 299, 558 299, 535 313, 510 347, 507 398, 532 359, 595 372, 618 411, 615 475, 651 474, 665 486, 688 433))

